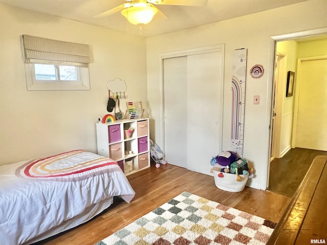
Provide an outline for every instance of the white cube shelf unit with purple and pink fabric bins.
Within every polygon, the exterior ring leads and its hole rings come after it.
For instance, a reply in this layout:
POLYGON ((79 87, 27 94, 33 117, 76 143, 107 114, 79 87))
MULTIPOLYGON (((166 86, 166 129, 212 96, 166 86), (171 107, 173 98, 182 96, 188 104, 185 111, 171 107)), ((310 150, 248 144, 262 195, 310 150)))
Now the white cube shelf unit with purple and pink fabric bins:
POLYGON ((150 167, 149 119, 122 119, 98 123, 98 154, 109 157, 121 166, 125 175, 150 167), (133 128, 126 138, 124 130, 133 128))

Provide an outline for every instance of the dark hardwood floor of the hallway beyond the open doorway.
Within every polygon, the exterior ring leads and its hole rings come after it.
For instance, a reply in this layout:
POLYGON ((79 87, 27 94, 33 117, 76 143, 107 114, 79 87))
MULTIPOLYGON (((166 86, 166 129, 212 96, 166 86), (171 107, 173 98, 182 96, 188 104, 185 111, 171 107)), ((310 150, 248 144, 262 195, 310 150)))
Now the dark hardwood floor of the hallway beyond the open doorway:
POLYGON ((327 155, 327 152, 294 148, 284 157, 272 160, 268 190, 292 197, 318 155, 327 155))

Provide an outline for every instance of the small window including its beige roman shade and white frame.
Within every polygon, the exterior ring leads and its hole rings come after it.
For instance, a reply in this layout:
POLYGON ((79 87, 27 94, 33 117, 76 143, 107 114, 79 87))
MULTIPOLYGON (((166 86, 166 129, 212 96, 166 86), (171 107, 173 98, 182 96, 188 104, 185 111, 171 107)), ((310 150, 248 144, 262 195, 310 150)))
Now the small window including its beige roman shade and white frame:
POLYGON ((23 35, 28 90, 88 90, 88 46, 23 35))

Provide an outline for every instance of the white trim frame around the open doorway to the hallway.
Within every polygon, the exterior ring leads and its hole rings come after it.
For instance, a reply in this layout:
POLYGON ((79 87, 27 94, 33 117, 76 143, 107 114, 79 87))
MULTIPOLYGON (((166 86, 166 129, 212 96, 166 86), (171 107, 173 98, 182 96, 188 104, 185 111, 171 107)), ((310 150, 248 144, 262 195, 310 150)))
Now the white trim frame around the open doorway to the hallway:
POLYGON ((270 108, 270 110, 266 110, 266 119, 265 119, 265 125, 268 126, 269 133, 266 136, 266 140, 268 143, 267 148, 267 157, 266 157, 266 164, 264 165, 264 171, 266 172, 266 175, 263 176, 262 181, 262 187, 261 189, 266 190, 268 188, 269 183, 269 173, 270 173, 270 157, 271 157, 271 141, 272 141, 272 110, 273 110, 273 91, 274 91, 274 64, 275 64, 275 57, 276 57, 276 42, 278 41, 287 41, 287 40, 294 40, 298 38, 306 38, 306 37, 312 37, 312 36, 319 36, 327 34, 327 28, 318 28, 308 31, 302 31, 302 32, 295 32, 295 33, 288 33, 288 34, 282 34, 277 36, 271 36, 270 37, 270 48, 269 48, 269 64, 268 64, 268 86, 267 86, 267 101, 266 101, 266 108, 270 108), (270 98, 270 99, 269 99, 270 98))

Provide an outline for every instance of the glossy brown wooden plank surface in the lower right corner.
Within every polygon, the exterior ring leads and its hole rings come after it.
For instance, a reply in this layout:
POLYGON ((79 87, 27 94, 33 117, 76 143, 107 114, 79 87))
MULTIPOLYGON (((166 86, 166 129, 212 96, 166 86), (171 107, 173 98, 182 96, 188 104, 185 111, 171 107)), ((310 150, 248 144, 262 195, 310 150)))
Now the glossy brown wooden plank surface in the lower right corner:
POLYGON ((327 156, 317 156, 267 244, 327 243, 327 156))

